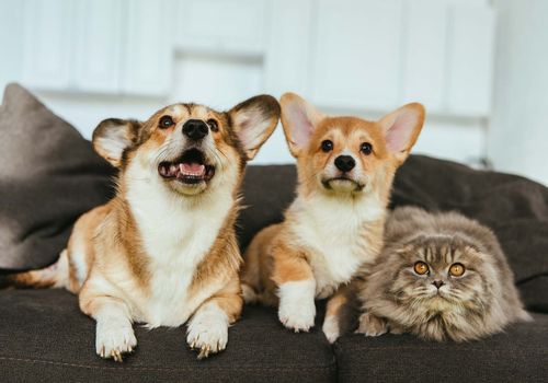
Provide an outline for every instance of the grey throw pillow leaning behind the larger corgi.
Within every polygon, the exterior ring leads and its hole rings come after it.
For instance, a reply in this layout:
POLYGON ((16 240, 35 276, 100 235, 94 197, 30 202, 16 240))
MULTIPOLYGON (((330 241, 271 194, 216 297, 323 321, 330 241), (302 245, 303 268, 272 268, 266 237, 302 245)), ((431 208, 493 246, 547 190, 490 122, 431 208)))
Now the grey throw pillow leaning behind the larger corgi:
POLYGON ((112 195, 114 170, 18 84, 0 106, 0 269, 57 259, 76 219, 112 195))

